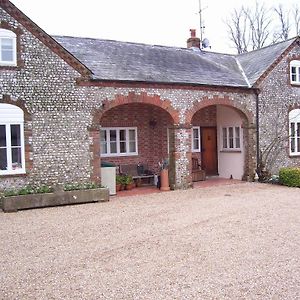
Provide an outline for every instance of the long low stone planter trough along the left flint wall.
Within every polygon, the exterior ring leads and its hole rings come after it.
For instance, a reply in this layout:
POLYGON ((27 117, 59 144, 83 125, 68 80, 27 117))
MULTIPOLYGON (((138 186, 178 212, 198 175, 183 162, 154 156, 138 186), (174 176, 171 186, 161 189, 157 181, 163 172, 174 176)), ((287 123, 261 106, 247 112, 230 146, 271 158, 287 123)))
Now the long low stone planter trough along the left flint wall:
POLYGON ((16 212, 19 209, 109 201, 108 188, 89 190, 56 191, 54 193, 30 194, 3 197, 4 212, 16 212))

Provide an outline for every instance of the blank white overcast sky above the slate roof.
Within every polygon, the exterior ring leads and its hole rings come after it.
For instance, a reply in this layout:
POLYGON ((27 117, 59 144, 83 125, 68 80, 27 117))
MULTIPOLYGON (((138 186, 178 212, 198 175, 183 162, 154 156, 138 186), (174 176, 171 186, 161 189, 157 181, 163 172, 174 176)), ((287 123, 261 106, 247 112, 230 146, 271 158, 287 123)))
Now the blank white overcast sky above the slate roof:
MULTIPOLYGON (((189 29, 199 32, 199 0, 11 0, 49 34, 186 47, 189 29)), ((204 37, 216 52, 229 47, 224 20, 255 0, 202 0, 204 37)), ((265 0, 289 9, 299 0, 265 0)), ((197 34, 198 35, 198 34, 197 34)))

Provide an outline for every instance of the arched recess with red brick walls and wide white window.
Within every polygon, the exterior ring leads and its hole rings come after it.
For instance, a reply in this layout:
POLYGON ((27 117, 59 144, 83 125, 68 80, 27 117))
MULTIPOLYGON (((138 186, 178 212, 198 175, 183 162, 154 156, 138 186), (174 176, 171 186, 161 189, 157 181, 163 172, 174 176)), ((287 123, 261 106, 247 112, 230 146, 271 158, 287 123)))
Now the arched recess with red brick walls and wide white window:
POLYGON ((105 111, 99 119, 101 160, 116 165, 143 164, 157 173, 169 156, 172 116, 163 108, 127 103, 105 111))

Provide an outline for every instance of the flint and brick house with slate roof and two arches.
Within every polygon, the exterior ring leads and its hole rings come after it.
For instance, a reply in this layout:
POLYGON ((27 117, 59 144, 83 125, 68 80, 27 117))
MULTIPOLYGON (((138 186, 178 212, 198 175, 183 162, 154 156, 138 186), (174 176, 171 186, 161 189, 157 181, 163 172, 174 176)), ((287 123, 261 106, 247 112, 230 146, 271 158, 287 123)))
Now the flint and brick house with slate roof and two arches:
POLYGON ((0 0, 0 189, 101 182, 101 161, 168 158, 172 188, 192 186, 193 157, 244 180, 264 155, 299 166, 299 37, 242 55, 187 42, 49 36, 0 0))

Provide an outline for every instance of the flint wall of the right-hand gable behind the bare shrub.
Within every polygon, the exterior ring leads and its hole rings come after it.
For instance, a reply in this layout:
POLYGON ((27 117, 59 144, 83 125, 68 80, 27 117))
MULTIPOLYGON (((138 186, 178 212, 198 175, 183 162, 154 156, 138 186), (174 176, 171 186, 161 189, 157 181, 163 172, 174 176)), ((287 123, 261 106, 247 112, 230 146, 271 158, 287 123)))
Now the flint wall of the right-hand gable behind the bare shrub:
POLYGON ((300 86, 290 84, 289 61, 292 59, 300 59, 299 46, 295 46, 259 86, 260 148, 265 156, 274 144, 267 163, 273 174, 281 167, 300 165, 299 156, 289 155, 288 113, 292 108, 300 107, 300 86))

